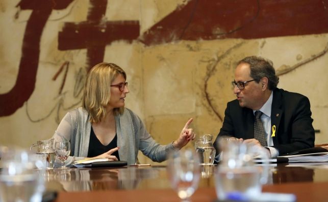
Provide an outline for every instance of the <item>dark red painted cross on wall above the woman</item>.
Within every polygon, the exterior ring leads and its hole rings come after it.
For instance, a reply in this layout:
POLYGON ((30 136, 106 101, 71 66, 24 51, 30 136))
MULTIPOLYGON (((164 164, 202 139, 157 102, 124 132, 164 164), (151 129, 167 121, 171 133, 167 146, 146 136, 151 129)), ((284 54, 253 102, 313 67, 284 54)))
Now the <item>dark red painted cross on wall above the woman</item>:
POLYGON ((139 37, 139 21, 105 21, 107 0, 90 0, 87 21, 66 22, 58 35, 58 49, 87 49, 87 68, 103 62, 105 47, 116 40, 139 37))

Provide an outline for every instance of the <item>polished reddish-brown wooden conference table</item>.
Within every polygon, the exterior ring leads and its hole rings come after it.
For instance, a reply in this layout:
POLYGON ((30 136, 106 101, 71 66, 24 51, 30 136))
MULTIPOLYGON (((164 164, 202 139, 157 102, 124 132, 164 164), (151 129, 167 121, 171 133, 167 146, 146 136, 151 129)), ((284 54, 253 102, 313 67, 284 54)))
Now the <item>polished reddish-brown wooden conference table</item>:
MULTIPOLYGON (((216 199, 214 171, 205 166, 191 201, 216 199)), ((328 201, 328 163, 270 166, 265 192, 293 193, 297 201, 328 201)), ((55 201, 180 201, 170 188, 165 166, 49 169, 43 174, 55 201)))

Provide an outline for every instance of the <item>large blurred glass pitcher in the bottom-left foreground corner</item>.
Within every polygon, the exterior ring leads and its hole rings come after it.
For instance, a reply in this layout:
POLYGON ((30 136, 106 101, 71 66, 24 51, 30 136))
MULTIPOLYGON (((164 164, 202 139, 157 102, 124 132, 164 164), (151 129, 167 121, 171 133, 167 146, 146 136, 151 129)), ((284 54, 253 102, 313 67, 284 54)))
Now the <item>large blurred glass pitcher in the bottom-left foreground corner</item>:
POLYGON ((34 154, 17 148, 0 148, 0 201, 40 202, 44 180, 35 168, 34 154))

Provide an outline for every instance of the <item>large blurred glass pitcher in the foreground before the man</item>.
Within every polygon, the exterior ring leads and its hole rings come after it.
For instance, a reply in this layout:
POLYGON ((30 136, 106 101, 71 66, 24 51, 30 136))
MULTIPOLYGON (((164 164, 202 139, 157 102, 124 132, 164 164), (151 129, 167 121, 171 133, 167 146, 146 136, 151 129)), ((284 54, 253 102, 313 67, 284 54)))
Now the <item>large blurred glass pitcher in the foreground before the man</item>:
MULTIPOLYGON (((222 142, 219 142, 220 145, 222 142)), ((224 141, 220 165, 215 172, 216 194, 220 200, 256 200, 268 180, 266 149, 241 141, 224 141), (261 159, 258 166, 255 159, 261 159)))

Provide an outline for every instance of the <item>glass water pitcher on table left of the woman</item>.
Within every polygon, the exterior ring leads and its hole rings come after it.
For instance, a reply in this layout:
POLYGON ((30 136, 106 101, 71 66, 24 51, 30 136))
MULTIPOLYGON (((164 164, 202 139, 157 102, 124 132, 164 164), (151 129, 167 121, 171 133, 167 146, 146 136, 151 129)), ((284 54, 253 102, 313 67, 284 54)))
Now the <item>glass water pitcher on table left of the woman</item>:
POLYGON ((31 145, 30 150, 35 152, 38 159, 43 162, 36 165, 38 168, 54 168, 56 158, 54 139, 38 140, 31 145))

